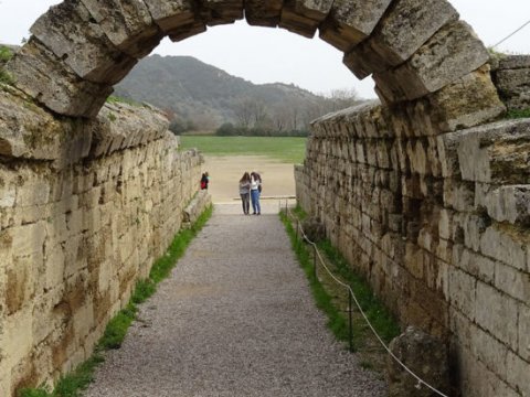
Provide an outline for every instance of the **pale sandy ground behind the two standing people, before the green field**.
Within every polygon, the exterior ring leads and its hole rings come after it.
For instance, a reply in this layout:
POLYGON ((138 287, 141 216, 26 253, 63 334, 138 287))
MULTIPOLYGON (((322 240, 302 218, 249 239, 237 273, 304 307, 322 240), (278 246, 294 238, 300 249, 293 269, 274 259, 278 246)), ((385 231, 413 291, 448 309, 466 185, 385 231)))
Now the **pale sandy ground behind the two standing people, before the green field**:
POLYGON ((295 195, 293 164, 262 155, 204 158, 202 170, 210 174, 209 191, 215 204, 236 203, 240 200, 239 181, 245 171, 257 171, 262 175, 264 202, 295 195))

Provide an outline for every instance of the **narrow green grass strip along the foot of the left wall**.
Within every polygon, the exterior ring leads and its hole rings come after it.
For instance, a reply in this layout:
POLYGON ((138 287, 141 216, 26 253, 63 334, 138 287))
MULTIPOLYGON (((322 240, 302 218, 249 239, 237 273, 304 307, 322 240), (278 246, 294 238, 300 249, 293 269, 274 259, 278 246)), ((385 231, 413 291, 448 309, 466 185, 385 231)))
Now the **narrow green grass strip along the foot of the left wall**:
POLYGON ((177 260, 182 257, 186 248, 191 240, 202 229, 208 219, 212 216, 213 207, 210 206, 198 218, 198 221, 189 229, 180 230, 174 236, 171 245, 166 254, 157 259, 152 265, 149 278, 139 280, 136 283, 135 290, 131 294, 127 307, 118 312, 107 324, 105 333, 99 340, 95 353, 86 362, 77 366, 77 368, 61 377, 53 391, 47 391, 45 388, 25 388, 19 391, 19 397, 78 397, 82 391, 93 382, 94 372, 99 363, 104 361, 102 352, 110 348, 119 348, 124 342, 125 335, 130 324, 136 319, 138 304, 145 302, 151 297, 156 290, 157 285, 167 278, 171 269, 176 266, 177 260))

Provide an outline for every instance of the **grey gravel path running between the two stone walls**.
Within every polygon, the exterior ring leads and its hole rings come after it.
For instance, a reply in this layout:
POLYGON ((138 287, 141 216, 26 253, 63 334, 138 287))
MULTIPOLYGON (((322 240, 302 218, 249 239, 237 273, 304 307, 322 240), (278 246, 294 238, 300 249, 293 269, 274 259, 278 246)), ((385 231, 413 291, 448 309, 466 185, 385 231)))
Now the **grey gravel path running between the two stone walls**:
POLYGON ((262 211, 215 207, 85 396, 385 395, 327 330, 277 205, 262 211))

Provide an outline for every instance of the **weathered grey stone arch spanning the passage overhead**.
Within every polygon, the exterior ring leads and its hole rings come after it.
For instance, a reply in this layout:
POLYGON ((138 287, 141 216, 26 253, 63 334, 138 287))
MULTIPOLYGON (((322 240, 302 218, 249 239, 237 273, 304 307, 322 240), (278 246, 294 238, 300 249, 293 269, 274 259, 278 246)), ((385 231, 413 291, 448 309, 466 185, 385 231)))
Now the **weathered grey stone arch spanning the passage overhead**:
POLYGON ((488 52, 446 0, 65 0, 32 25, 7 67, 17 87, 54 112, 92 118, 162 37, 180 41, 243 18, 307 37, 318 31, 356 76, 373 76, 383 103, 427 98, 444 126, 498 112, 481 68, 488 52), (470 89, 489 103, 459 109, 452 121, 446 99, 470 89))

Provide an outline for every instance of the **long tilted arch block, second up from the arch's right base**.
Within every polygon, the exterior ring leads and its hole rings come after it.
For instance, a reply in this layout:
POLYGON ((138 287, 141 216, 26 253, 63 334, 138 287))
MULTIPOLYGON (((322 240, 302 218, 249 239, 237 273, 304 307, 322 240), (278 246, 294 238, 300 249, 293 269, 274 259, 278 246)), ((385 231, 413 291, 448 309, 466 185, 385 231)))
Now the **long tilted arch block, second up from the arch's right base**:
POLYGON ((471 28, 458 21, 442 28, 404 64, 375 73, 373 79, 390 100, 412 100, 445 87, 488 60, 471 28))

